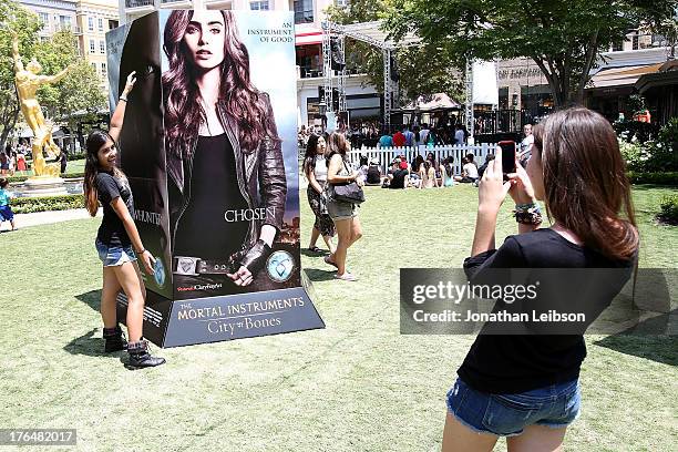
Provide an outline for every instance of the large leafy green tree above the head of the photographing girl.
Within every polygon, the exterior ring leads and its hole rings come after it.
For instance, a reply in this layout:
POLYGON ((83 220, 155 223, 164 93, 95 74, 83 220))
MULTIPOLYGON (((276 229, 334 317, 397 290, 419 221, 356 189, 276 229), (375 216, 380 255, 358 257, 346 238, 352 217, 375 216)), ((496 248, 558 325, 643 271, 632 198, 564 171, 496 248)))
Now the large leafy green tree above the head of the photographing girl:
POLYGON ((387 27, 415 32, 461 68, 466 58, 531 58, 557 107, 581 104, 600 52, 639 24, 674 17, 676 0, 393 0, 387 27))

